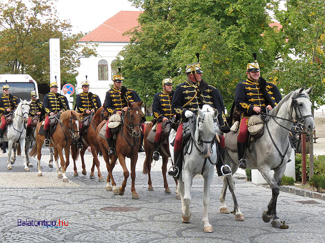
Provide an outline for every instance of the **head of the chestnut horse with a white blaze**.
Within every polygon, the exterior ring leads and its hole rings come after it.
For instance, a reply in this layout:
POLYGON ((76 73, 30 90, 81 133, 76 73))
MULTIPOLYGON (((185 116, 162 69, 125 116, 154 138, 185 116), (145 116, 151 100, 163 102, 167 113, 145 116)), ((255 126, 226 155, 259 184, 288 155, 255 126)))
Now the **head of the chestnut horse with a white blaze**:
POLYGON ((77 141, 80 137, 80 114, 75 110, 64 111, 60 116, 60 121, 69 129, 73 141, 77 141))

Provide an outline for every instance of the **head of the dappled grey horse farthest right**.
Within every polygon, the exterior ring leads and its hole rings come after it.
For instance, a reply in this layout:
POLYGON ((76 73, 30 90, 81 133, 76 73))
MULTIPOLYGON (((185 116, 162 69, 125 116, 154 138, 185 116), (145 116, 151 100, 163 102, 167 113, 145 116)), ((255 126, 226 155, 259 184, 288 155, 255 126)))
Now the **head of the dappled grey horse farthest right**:
POLYGON ((305 90, 305 87, 302 87, 300 90, 294 91, 291 102, 291 115, 303 125, 306 133, 312 133, 315 128, 309 99, 309 94, 313 88, 312 86, 305 90))

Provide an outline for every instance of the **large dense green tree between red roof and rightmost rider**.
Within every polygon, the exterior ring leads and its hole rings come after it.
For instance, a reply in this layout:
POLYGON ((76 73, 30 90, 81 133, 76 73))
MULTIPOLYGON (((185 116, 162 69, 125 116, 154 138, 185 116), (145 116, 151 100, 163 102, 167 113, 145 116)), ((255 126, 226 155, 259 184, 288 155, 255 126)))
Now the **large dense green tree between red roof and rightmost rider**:
MULTIPOLYGON (((151 104, 161 80, 172 71, 174 82, 184 81, 187 63, 200 53, 203 78, 216 86, 229 108, 238 82, 246 76, 252 53, 263 50, 263 34, 273 31, 267 1, 134 0, 141 7, 139 26, 127 33, 131 43, 120 53, 126 82, 151 104)), ((273 66, 275 52, 258 55, 263 70, 273 66)), ((175 86, 176 88, 176 86, 175 86)))

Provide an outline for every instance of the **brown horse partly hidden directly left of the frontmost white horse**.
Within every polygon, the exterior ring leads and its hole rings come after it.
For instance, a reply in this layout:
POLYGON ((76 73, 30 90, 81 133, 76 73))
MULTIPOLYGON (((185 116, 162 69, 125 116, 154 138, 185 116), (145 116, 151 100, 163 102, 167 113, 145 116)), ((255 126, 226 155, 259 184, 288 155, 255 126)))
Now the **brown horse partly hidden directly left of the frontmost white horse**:
MULTIPOLYGON (((168 121, 168 123, 166 123, 166 129, 164 129, 165 131, 168 132, 163 132, 163 139, 165 140, 165 138, 167 139, 167 143, 164 143, 160 145, 159 148, 159 154, 160 156, 163 158, 163 165, 161 166, 161 172, 163 173, 163 177, 164 177, 164 187, 165 187, 165 193, 171 193, 171 190, 169 189, 168 186, 168 182, 167 182, 167 178, 166 178, 166 172, 167 172, 167 164, 168 164, 168 158, 171 157, 170 151, 169 151, 169 144, 168 144, 168 137, 169 137, 169 132, 170 132, 170 126, 172 125, 171 121, 168 121), (166 134, 167 133, 167 134, 166 134)), ((148 191, 153 191, 153 187, 152 187, 152 182, 151 182, 151 175, 150 175, 150 171, 151 171, 151 163, 152 163, 152 154, 154 152, 154 144, 152 142, 150 142, 147 138, 149 133, 151 132, 153 127, 153 123, 149 123, 146 127, 146 130, 144 132, 144 150, 146 152, 146 158, 143 162, 143 174, 148 174, 148 191)), ((175 180, 175 179, 174 179, 175 180)), ((177 189, 177 180, 175 180, 176 183, 176 194, 177 194, 177 199, 180 199, 180 195, 178 194, 178 189, 177 189)))

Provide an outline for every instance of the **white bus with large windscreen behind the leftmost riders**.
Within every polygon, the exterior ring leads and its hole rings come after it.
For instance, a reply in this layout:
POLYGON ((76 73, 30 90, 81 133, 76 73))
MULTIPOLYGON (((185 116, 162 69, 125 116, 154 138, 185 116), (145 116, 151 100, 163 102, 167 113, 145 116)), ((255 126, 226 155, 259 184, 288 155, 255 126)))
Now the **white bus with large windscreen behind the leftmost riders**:
POLYGON ((10 94, 22 100, 30 100, 30 92, 39 90, 36 81, 28 74, 0 74, 0 87, 7 84, 10 87, 10 94))

